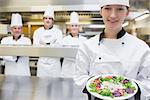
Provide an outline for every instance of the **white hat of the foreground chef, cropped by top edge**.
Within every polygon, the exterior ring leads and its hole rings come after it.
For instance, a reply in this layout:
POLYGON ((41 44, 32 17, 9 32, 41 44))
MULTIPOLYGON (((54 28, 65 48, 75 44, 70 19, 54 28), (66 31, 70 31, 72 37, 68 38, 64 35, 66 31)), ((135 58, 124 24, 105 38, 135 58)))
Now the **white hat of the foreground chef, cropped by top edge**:
POLYGON ((129 0, 100 0, 100 8, 105 5, 125 5, 129 7, 129 0))

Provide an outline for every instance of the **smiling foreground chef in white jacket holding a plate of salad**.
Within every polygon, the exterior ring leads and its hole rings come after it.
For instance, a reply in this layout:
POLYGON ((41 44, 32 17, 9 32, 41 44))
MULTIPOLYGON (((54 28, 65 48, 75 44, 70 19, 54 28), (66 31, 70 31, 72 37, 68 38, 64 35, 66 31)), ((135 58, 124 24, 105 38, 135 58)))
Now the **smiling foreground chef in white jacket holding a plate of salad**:
POLYGON ((122 28, 128 14, 129 0, 100 0, 105 29, 80 45, 74 80, 85 86, 94 75, 123 75, 136 80, 141 100, 146 100, 150 96, 150 87, 146 85, 150 84, 150 48, 122 28))

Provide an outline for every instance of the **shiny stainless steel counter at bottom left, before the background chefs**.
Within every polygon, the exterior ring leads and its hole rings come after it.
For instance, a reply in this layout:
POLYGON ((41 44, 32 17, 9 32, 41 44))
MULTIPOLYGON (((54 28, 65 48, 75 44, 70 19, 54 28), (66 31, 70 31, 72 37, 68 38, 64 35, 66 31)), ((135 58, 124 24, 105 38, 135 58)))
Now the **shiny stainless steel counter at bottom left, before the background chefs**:
POLYGON ((0 75, 0 100, 86 100, 72 79, 0 75))

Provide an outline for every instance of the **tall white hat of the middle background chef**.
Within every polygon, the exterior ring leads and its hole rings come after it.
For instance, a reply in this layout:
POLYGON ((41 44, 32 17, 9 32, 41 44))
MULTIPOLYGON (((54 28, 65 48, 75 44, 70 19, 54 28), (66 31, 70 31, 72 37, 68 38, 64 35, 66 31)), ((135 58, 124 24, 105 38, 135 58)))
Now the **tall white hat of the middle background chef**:
POLYGON ((52 17, 54 19, 54 9, 52 6, 48 5, 45 9, 43 17, 52 17))

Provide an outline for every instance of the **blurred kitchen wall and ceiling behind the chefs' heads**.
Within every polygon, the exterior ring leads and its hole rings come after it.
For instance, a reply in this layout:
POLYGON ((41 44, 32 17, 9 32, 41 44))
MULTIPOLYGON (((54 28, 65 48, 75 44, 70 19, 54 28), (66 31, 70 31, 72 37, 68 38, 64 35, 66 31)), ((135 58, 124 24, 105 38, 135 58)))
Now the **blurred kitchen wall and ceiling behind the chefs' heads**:
MULTIPOLYGON (((79 13, 82 33, 98 33, 102 28, 93 27, 103 25, 98 2, 99 0, 0 0, 0 23, 9 25, 11 14, 18 12, 23 16, 25 35, 32 38, 34 30, 42 25, 44 9, 50 4, 55 9, 55 24, 64 34, 72 11, 79 13)), ((142 12, 150 10, 150 0, 130 0, 130 4, 131 16, 126 20, 129 23, 126 29, 130 33, 136 30, 139 37, 150 35, 150 17, 135 21, 142 12)))

